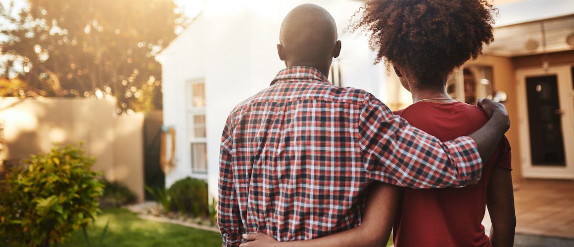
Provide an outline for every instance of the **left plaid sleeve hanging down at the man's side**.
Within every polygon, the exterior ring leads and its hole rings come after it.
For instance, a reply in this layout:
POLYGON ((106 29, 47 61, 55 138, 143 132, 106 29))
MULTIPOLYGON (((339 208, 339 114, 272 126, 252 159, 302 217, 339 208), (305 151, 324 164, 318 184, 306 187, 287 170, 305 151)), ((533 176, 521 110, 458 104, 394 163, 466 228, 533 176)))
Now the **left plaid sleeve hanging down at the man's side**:
MULTIPOLYGON (((229 121, 228 121, 229 123, 229 121)), ((243 223, 239 214, 239 203, 236 198, 233 179, 233 157, 231 136, 228 123, 223 130, 219 152, 219 191, 218 191, 218 225, 222 235, 223 246, 239 246, 242 241, 243 223)))

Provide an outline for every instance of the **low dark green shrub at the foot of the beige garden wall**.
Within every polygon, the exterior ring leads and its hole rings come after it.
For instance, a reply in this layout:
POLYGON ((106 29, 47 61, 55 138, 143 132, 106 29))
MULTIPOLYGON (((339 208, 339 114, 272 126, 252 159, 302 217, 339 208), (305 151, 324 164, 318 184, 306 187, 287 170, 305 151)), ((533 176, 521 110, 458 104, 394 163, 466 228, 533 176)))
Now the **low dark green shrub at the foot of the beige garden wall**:
POLYGON ((102 207, 119 207, 134 203, 137 200, 137 196, 123 183, 114 181, 109 182, 103 180, 104 185, 104 195, 100 199, 100 205, 102 207))

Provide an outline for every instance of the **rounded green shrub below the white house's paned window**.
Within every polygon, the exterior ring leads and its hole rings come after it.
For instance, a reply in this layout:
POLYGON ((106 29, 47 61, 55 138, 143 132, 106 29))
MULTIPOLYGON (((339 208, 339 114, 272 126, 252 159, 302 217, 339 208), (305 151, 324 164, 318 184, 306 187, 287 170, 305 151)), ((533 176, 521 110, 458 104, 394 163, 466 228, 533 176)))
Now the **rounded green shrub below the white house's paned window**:
POLYGON ((207 183, 200 179, 184 178, 173 183, 168 190, 180 213, 189 213, 196 217, 208 217, 210 205, 208 201, 207 183))

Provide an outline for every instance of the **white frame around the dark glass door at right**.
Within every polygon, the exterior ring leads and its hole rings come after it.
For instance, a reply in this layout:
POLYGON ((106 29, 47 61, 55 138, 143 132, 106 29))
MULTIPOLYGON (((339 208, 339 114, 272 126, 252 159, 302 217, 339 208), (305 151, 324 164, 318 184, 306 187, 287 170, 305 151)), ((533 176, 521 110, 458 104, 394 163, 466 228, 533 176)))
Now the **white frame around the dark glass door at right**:
POLYGON ((574 179, 574 89, 572 89, 571 65, 551 66, 548 73, 542 68, 516 70, 518 92, 518 128, 522 176, 525 178, 574 179), (540 167, 532 165, 530 153, 530 128, 528 122, 528 100, 526 99, 526 77, 556 75, 560 108, 565 166, 540 167))

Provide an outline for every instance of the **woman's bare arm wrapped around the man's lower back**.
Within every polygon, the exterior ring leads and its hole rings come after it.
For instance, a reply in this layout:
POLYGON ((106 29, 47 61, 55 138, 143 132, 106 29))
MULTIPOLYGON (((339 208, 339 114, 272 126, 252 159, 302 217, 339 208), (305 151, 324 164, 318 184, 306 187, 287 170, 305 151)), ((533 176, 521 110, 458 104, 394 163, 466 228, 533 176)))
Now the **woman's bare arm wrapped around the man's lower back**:
POLYGON ((249 242, 241 244, 241 247, 385 246, 393 228, 400 194, 398 187, 375 182, 369 186, 363 224, 356 228, 321 238, 293 242, 277 242, 266 234, 250 233, 244 237, 249 242))

